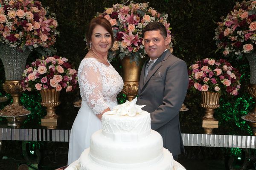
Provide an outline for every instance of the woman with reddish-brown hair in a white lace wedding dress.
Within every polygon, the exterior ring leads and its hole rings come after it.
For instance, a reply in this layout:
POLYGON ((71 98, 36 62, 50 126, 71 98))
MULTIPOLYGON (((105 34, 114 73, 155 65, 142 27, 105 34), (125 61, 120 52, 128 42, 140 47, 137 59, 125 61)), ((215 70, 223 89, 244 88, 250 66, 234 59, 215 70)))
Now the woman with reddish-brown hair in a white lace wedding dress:
POLYGON ((107 59, 114 42, 109 21, 93 18, 86 37, 89 52, 78 69, 82 104, 71 129, 68 164, 90 146, 91 135, 102 128, 102 114, 117 105, 116 96, 123 87, 122 78, 107 59))

